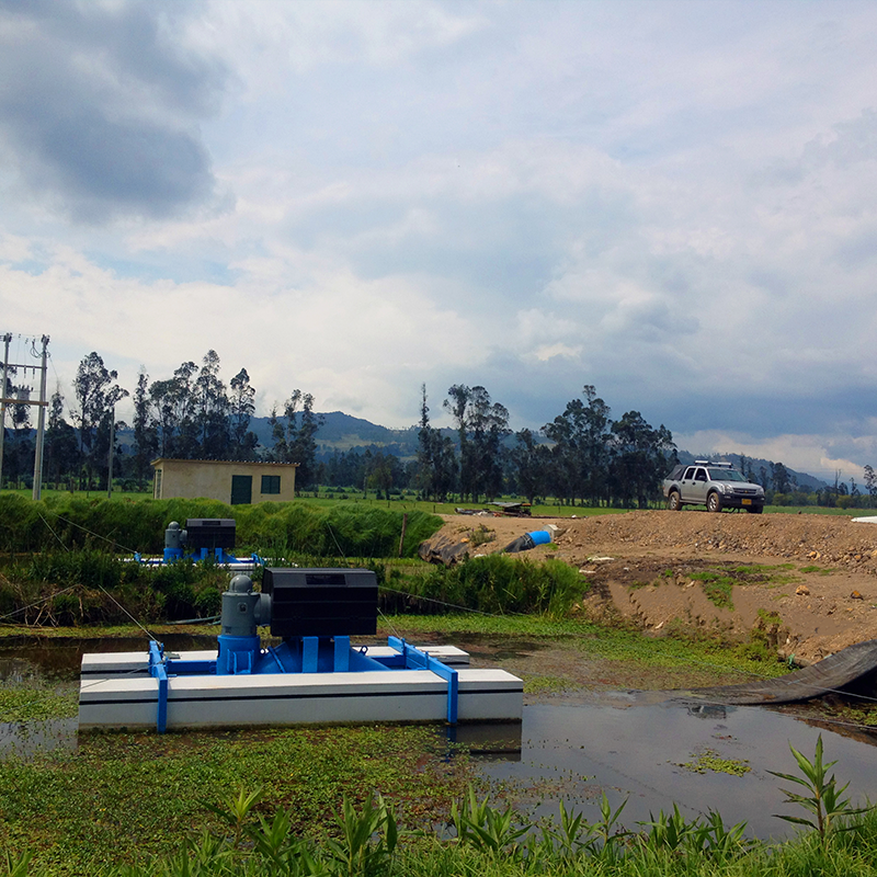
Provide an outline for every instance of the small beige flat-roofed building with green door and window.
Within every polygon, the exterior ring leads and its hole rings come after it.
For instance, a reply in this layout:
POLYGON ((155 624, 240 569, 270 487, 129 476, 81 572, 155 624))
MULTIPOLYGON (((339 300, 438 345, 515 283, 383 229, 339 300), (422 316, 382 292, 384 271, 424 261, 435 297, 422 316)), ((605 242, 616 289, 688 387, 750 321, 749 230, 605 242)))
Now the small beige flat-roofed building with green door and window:
POLYGON ((295 497, 297 463, 221 459, 152 460, 152 497, 219 500, 231 505, 288 502, 295 497))

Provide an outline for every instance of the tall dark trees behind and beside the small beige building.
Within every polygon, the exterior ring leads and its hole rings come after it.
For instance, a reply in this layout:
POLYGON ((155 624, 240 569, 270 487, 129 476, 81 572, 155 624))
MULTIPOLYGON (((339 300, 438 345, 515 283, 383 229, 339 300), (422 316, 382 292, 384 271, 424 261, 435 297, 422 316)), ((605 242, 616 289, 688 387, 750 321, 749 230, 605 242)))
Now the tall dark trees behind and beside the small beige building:
MULTIPOLYGON (((69 402, 57 388, 48 402, 44 438, 44 479, 56 487, 89 490, 106 485, 110 445, 113 471, 145 489, 152 478, 150 463, 157 457, 181 459, 265 459, 298 463, 301 483, 317 475, 316 434, 322 422, 314 411, 314 397, 295 389, 271 412, 272 446, 261 447, 250 429, 255 412, 255 388, 246 368, 228 385, 219 376, 220 361, 208 351, 201 365, 184 362, 170 377, 150 380, 140 371, 134 394, 118 385, 118 373, 110 369, 95 352, 79 363, 69 402), (115 415, 116 406, 130 397, 130 426, 115 415), (69 421, 65 417, 69 415, 69 421), (130 445, 119 437, 130 431, 130 445)), ((14 377, 14 373, 11 372, 14 377)), ((18 388, 8 378, 8 397, 18 388)), ((26 406, 12 406, 9 447, 3 474, 15 480, 33 471, 34 441, 26 406)))

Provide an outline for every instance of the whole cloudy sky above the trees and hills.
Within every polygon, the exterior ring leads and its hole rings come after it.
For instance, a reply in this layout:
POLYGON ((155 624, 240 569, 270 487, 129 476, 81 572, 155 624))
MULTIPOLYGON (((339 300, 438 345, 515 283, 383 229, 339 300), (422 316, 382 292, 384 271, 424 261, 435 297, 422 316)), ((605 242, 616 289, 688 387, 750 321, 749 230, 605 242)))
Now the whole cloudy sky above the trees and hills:
POLYGON ((71 405, 91 351, 391 428, 593 385, 861 485, 876 37, 872 0, 0 0, 0 332, 71 405))

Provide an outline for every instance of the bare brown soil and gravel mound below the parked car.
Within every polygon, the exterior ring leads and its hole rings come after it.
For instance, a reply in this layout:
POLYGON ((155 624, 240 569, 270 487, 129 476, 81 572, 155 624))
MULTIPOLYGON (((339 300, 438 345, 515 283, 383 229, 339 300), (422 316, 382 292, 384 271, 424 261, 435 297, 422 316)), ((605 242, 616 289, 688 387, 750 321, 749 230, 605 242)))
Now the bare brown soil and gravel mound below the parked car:
POLYGON ((877 637, 875 523, 690 509, 445 521, 438 535, 467 539, 470 556, 556 526, 551 544, 521 557, 577 566, 591 588, 576 611, 594 620, 635 623, 656 636, 683 626, 745 640, 759 630, 781 658, 801 664, 877 637))

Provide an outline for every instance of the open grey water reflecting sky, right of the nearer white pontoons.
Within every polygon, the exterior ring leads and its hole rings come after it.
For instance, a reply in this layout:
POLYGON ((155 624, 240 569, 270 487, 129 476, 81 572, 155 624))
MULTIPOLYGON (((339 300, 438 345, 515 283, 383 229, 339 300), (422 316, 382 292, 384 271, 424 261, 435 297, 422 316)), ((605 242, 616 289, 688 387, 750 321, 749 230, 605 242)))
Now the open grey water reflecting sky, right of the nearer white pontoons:
POLYGON ((726 824, 748 822, 748 834, 767 840, 795 833, 774 813, 805 816, 783 804, 777 779, 768 770, 799 775, 789 743, 812 759, 822 733, 825 761, 841 785, 852 781, 853 801, 877 799, 877 760, 873 742, 813 728, 800 719, 763 707, 649 704, 636 695, 616 695, 612 703, 524 708, 521 751, 511 759, 491 758, 481 770, 503 784, 511 799, 535 817, 557 817, 558 801, 600 819, 601 794, 613 809, 627 799, 620 821, 635 829, 673 804, 687 819, 721 813, 726 824), (681 765, 713 752, 718 759, 745 763, 742 776, 681 765))

